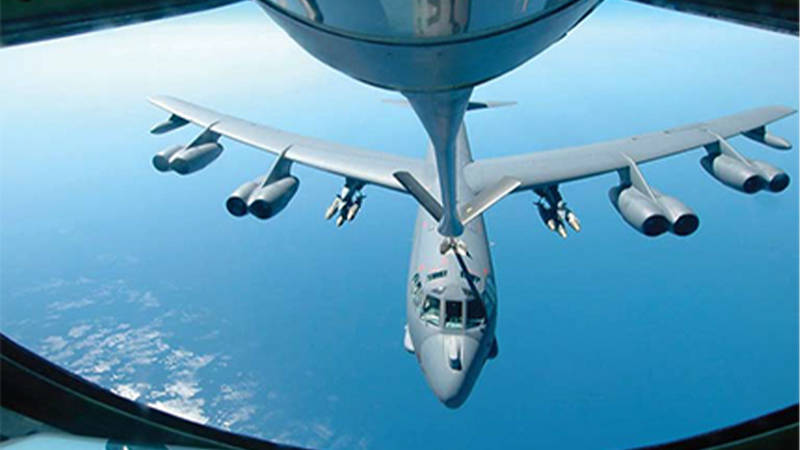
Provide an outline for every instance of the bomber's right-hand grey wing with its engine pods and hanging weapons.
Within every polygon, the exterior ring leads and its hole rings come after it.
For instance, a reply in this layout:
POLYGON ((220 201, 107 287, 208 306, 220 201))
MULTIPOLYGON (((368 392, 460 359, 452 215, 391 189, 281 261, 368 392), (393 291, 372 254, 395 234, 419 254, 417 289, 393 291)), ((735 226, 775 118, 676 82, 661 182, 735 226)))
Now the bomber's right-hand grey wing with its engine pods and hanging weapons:
POLYGON ((616 171, 619 185, 609 191, 609 197, 629 225, 647 236, 666 231, 687 236, 700 223, 697 215, 678 199, 651 188, 638 165, 705 147, 708 154, 700 162, 720 182, 749 194, 763 189, 780 192, 789 185, 785 172, 742 156, 726 139, 741 134, 788 150, 791 144, 770 134, 766 125, 794 112, 784 106, 768 106, 615 141, 475 161, 464 168, 465 179, 475 191, 484 191, 501 180, 516 180, 515 191, 530 189, 538 194, 536 205, 542 221, 566 238, 565 223, 575 231, 580 231, 581 225, 562 198, 559 184, 616 171))

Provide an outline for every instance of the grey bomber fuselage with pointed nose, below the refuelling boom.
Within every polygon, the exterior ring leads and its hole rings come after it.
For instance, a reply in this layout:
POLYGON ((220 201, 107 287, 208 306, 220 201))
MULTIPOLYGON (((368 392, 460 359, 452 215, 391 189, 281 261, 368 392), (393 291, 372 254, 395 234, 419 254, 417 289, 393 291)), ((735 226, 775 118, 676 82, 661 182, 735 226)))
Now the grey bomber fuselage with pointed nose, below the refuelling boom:
MULTIPOLYGON (((455 148, 456 173, 460 177, 463 168, 472 162, 463 124, 457 134, 455 148)), ((433 157, 431 146, 428 151, 431 169, 434 167, 433 157)), ((427 175, 421 181, 429 191, 435 192, 430 188, 438 185, 436 173, 431 170, 427 175)), ((465 183, 457 186, 459 202, 467 202, 475 195, 465 183)), ((475 276, 475 286, 482 297, 477 301, 483 301, 486 310, 485 319, 476 326, 468 326, 466 320, 464 302, 472 296, 455 253, 442 255, 439 252, 442 236, 437 231, 437 221, 424 208, 419 208, 408 271, 407 330, 428 385, 436 397, 450 408, 461 406, 469 396, 489 356, 497 323, 494 270, 483 217, 470 222, 460 239, 466 244, 468 255, 464 260, 470 276, 475 276), (423 308, 431 297, 440 301, 438 321, 423 319, 423 308), (460 327, 446 323, 447 302, 462 305, 460 327)))

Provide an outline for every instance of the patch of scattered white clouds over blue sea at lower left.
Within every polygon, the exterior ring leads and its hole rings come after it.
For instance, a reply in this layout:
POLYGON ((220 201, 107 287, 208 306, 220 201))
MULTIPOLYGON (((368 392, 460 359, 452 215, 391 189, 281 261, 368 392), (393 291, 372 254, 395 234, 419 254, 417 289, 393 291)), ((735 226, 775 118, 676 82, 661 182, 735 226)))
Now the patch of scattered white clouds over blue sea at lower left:
MULTIPOLYGON (((287 416, 281 409, 285 395, 277 390, 262 390, 253 374, 235 372, 235 378, 220 380, 223 383, 216 386, 215 380, 204 378, 204 371, 218 374, 234 359, 227 353, 197 351, 195 343, 204 342, 205 348, 209 341, 179 341, 170 330, 188 322, 190 327, 214 324, 219 332, 216 322, 210 321, 213 315, 208 310, 159 307, 152 311, 160 314, 146 316, 149 318, 142 324, 125 311, 138 309, 137 305, 157 298, 157 291, 135 289, 125 280, 89 279, 53 281, 45 288, 50 289, 48 295, 63 297, 68 292, 94 301, 99 314, 91 322, 83 315, 63 335, 43 339, 42 354, 121 397, 193 422, 263 435, 287 444, 325 448, 368 446, 368 440, 338 433, 331 418, 306 422, 287 416), (112 316, 100 313, 107 302, 114 304, 112 316), (120 322, 117 316, 127 321, 120 322)), ((198 331, 200 336, 207 334, 203 328, 198 331)), ((325 399, 334 406, 341 401, 333 394, 325 399)))

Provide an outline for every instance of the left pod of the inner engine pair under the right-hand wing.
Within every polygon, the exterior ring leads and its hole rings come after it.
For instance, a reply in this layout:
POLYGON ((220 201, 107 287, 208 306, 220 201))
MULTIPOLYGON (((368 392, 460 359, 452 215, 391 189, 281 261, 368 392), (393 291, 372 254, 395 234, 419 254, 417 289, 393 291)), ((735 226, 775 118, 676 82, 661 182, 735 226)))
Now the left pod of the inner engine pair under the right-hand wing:
POLYGON ((633 186, 615 186, 608 191, 611 204, 626 222, 646 236, 658 236, 670 228, 663 211, 633 186))

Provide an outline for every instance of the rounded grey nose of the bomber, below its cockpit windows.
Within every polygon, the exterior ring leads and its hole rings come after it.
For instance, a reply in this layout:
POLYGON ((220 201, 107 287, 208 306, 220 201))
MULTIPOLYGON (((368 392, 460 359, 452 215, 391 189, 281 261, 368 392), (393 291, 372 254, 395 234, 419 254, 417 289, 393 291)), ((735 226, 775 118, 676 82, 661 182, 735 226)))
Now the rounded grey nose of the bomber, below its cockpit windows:
POLYGON ((448 408, 458 408, 469 396, 475 376, 472 365, 478 342, 463 335, 437 334, 420 351, 425 378, 436 397, 448 408))

